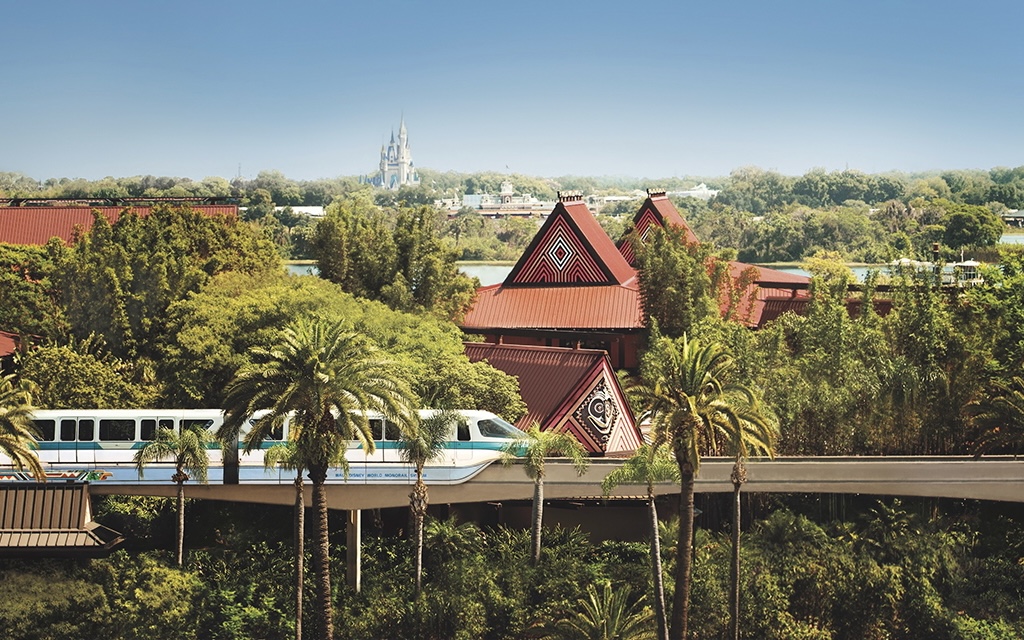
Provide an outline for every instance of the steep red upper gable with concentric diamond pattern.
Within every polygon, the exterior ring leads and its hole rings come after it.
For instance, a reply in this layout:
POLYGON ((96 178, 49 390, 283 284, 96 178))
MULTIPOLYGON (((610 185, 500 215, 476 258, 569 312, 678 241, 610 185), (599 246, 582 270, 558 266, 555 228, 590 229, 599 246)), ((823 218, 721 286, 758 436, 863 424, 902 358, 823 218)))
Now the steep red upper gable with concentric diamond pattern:
POLYGON ((505 279, 505 287, 622 285, 635 275, 575 197, 563 198, 505 279))

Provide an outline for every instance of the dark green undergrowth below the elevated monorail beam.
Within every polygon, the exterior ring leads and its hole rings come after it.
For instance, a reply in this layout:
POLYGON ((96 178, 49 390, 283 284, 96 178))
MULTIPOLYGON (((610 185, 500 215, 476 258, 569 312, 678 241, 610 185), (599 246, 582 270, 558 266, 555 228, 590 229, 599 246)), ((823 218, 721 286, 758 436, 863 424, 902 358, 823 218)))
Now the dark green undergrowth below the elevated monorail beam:
MULTIPOLYGON (((1024 530, 1008 510, 833 498, 861 515, 834 520, 819 515, 827 513, 823 503, 800 497, 756 501, 759 515, 743 536, 741 637, 1012 640, 1024 634, 1024 530)), ((162 531, 173 526, 144 508, 151 503, 108 498, 97 518, 133 530, 136 541, 163 543, 162 531)), ((727 508, 720 503, 702 498, 699 506, 711 514, 727 508)), ((140 550, 97 560, 0 561, 7 588, 0 633, 24 640, 294 636, 289 522, 287 508, 196 503, 184 569, 164 553, 140 550)), ((663 524, 669 571, 676 563, 669 530, 675 525, 663 524)), ((336 637, 581 637, 560 633, 556 624, 563 620, 595 632, 629 624, 635 634, 582 637, 653 637, 646 544, 592 542, 579 529, 555 527, 534 567, 527 538, 501 526, 430 519, 423 595, 414 599, 409 541, 374 529, 371 520, 362 591, 338 589, 336 637), (600 597, 604 584, 617 599, 600 597)), ((701 524, 694 548, 691 637, 728 637, 728 532, 701 524)), ((342 545, 332 557, 340 574, 342 545)), ((305 606, 304 635, 314 637, 308 621, 315 603, 307 599, 305 606)))

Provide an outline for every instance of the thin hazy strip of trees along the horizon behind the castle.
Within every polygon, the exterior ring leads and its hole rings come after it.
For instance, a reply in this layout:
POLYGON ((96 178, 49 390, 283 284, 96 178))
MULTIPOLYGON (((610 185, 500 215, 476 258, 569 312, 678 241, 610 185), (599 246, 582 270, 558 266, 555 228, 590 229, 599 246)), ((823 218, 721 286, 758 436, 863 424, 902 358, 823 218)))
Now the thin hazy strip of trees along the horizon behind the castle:
MULTIPOLYGON (((998 203, 1009 209, 1024 206, 1024 166, 996 167, 984 170, 955 170, 929 173, 866 174, 856 170, 813 169, 802 176, 787 176, 757 167, 736 169, 725 177, 588 177, 559 176, 541 178, 518 173, 460 173, 419 170, 416 187, 397 191, 374 191, 382 201, 389 199, 407 204, 424 204, 434 199, 464 194, 497 194, 505 180, 520 194, 540 200, 553 200, 558 190, 591 194, 629 194, 649 187, 683 190, 698 181, 718 189, 716 202, 764 215, 769 211, 798 204, 805 207, 833 207, 848 202, 877 205, 891 200, 909 202, 946 199, 966 205, 998 203)), ((327 206, 338 197, 354 190, 372 190, 358 177, 342 176, 318 180, 292 180, 280 171, 261 171, 255 178, 189 178, 132 176, 82 178, 46 178, 42 181, 15 172, 0 172, 0 197, 4 198, 156 198, 156 197, 233 197, 251 201, 257 191, 265 191, 278 206, 327 206)))

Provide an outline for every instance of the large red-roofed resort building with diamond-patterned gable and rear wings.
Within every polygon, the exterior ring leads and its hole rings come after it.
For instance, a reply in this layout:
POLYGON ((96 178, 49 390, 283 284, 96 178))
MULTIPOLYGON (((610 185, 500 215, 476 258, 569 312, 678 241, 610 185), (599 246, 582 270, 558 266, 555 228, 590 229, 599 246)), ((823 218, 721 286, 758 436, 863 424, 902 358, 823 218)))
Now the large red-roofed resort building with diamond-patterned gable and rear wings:
MULTIPOLYGON (((648 191, 633 223, 641 239, 654 226, 677 226, 697 242, 665 191, 648 191)), ((646 323, 634 259, 632 245, 616 246, 581 196, 559 194, 505 281, 477 290, 462 328, 497 344, 599 349, 614 369, 635 370, 646 323)), ((806 305, 806 276, 735 261, 729 271, 750 284, 738 303, 722 301, 722 312, 748 327, 806 305)))

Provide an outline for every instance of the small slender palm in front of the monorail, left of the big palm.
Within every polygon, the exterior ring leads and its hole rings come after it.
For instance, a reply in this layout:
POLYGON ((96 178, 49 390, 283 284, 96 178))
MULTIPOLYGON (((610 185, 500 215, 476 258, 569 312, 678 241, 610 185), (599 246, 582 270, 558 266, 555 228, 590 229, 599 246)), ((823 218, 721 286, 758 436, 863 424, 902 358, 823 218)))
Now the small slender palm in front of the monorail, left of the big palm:
POLYGON ((185 544, 185 481, 190 473, 196 480, 206 483, 206 471, 210 465, 206 445, 213 441, 213 434, 202 425, 191 425, 180 431, 162 428, 157 430, 157 438, 135 452, 132 459, 139 478, 143 477, 145 466, 151 462, 167 459, 174 462, 171 480, 178 485, 178 566, 181 566, 185 544))

